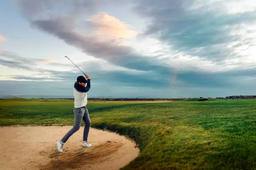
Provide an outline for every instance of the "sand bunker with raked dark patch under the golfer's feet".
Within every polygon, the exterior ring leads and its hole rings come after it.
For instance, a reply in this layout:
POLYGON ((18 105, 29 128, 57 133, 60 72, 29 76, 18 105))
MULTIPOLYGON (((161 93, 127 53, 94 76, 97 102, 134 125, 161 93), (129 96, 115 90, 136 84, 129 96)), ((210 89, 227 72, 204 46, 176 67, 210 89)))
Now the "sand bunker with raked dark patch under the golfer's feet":
POLYGON ((72 126, 0 127, 1 170, 118 170, 139 154, 136 144, 116 133, 90 128, 91 148, 82 146, 81 127, 64 144, 56 142, 72 126))

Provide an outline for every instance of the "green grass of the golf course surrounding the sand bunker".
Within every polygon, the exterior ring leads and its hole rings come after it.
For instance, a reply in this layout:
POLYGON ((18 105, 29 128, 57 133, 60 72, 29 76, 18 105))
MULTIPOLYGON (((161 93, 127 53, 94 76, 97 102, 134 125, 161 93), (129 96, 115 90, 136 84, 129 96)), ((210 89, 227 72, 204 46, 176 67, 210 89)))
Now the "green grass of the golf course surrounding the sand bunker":
MULTIPOLYGON (((73 105, 0 100, 0 124, 73 125, 73 105)), ((92 127, 127 135, 140 148, 123 170, 256 169, 256 100, 88 102, 87 107, 92 127)))

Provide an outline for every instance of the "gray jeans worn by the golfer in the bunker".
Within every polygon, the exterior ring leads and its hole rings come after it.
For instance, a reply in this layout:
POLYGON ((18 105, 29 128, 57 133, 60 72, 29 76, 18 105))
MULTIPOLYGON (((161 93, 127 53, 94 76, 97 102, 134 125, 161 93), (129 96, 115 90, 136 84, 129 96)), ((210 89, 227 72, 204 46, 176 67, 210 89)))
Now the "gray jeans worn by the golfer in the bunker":
POLYGON ((79 107, 75 108, 74 107, 74 127, 67 132, 67 134, 61 139, 63 143, 66 143, 67 140, 71 135, 73 135, 77 130, 79 130, 81 126, 82 120, 84 120, 84 136, 83 136, 83 141, 87 141, 88 134, 89 134, 89 129, 91 126, 91 121, 89 117, 89 112, 86 107, 79 107))

